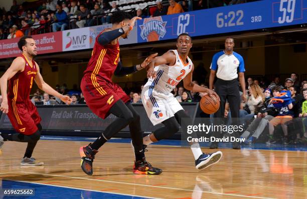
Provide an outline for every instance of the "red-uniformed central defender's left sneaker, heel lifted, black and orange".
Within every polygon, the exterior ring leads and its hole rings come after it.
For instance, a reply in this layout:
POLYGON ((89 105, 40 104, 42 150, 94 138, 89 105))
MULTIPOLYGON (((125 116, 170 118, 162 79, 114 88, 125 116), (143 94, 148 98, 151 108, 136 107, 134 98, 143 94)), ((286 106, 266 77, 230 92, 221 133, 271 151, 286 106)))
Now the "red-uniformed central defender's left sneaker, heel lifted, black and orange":
POLYGON ((87 175, 93 175, 93 161, 95 159, 95 154, 98 152, 90 147, 90 144, 87 146, 80 147, 80 156, 81 156, 81 168, 84 173, 87 175))

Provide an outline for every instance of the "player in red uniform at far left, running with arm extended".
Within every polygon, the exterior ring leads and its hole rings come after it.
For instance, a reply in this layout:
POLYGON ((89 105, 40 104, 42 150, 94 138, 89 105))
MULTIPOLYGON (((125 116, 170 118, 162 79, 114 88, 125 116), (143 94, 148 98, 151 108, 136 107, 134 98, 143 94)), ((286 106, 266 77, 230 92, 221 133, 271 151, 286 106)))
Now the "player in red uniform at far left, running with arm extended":
POLYGON ((67 104, 71 103, 71 99, 58 93, 44 82, 40 74, 40 68, 33 60, 37 55, 37 51, 35 40, 31 36, 22 37, 18 42, 18 47, 23 53, 14 59, 10 68, 0 78, 3 96, 0 110, 8 114, 14 129, 18 133, 0 133, 0 146, 3 145, 4 141, 27 142, 28 146, 21 165, 37 166, 43 163, 36 162, 35 158, 32 158, 32 153, 41 137, 42 126, 40 125, 41 117, 30 101, 33 81, 37 83, 40 89, 59 97, 67 104), (7 93, 8 80, 9 92, 7 93))

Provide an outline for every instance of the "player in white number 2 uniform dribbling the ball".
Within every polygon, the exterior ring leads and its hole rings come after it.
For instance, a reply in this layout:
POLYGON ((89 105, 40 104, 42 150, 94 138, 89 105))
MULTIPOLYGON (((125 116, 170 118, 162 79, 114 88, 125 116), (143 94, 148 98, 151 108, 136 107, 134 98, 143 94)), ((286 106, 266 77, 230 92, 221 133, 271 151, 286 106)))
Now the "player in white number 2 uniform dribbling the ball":
MULTIPOLYGON (((194 92, 215 94, 213 90, 197 85, 192 81, 194 65, 188 57, 192 47, 191 37, 183 33, 177 38, 177 50, 170 50, 156 57, 146 67, 149 78, 142 90, 142 103, 153 125, 163 123, 162 127, 143 138, 147 145, 169 138, 179 131, 181 119, 189 118, 182 106, 171 93, 183 79, 184 87, 194 92)), ((191 120, 192 121, 192 120, 191 120)), ((198 142, 189 143, 197 169, 216 164, 222 158, 222 152, 203 153, 198 142)))

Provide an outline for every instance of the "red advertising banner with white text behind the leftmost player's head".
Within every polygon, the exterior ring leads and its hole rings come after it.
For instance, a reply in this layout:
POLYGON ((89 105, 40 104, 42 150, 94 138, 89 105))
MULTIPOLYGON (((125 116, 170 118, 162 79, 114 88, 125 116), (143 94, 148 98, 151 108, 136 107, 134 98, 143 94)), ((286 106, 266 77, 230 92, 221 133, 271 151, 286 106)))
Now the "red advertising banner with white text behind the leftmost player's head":
MULTIPOLYGON (((20 38, 0 40, 0 59, 16 57, 21 54, 17 42, 20 38)), ((62 51, 62 32, 33 35, 38 54, 62 51)))

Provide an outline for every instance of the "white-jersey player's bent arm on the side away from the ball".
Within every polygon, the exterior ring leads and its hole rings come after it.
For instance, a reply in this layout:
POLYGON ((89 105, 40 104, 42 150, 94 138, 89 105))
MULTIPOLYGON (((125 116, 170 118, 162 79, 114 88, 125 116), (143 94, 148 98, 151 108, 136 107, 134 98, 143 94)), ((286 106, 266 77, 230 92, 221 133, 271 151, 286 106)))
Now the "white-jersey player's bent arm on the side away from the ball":
POLYGON ((176 62, 176 55, 173 51, 169 50, 168 52, 164 53, 162 56, 156 57, 154 60, 152 60, 147 66, 147 78, 156 78, 157 73, 155 72, 155 67, 162 65, 162 64, 168 64, 168 65, 174 65, 176 62))

